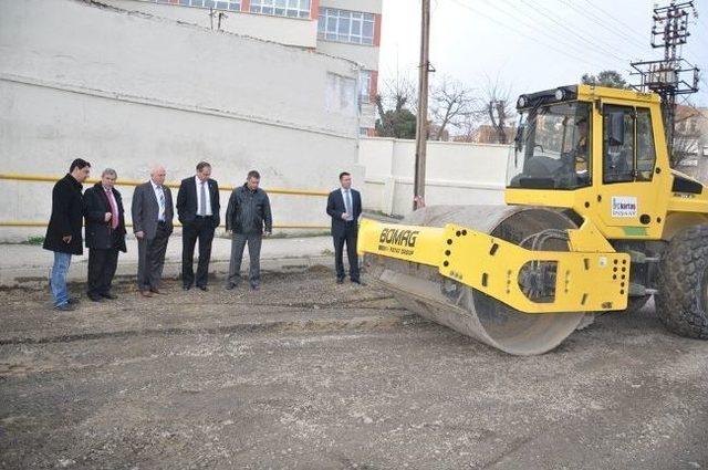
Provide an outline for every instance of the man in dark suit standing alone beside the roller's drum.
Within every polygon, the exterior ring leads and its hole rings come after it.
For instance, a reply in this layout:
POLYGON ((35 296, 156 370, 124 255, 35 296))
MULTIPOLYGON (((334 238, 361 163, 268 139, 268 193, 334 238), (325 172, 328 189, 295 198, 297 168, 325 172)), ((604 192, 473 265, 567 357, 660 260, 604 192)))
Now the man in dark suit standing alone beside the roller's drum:
POLYGON ((334 265, 336 268, 336 283, 344 282, 344 262, 342 255, 344 243, 350 260, 350 279, 361 284, 358 278, 358 257, 356 254, 356 237, 358 234, 358 217, 362 215, 362 196, 352 189, 352 175, 346 171, 340 174, 339 189, 330 192, 327 198, 327 215, 332 218, 332 238, 334 239, 334 265))

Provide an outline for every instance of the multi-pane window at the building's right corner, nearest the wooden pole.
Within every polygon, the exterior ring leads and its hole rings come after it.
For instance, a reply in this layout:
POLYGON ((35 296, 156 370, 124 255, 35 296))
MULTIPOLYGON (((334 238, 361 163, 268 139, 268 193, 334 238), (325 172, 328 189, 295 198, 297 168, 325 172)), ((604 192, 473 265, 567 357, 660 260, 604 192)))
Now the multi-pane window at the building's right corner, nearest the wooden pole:
POLYGON ((326 41, 374 43, 374 15, 357 11, 321 8, 317 38, 326 41))

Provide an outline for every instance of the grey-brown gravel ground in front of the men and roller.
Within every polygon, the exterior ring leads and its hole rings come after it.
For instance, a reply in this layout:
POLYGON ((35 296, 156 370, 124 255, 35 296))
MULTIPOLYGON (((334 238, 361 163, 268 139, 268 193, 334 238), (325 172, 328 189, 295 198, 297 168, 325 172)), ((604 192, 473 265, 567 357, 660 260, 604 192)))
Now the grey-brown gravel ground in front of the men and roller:
POLYGON ((652 306, 512 357, 325 269, 166 291, 0 292, 1 468, 708 468, 708 343, 652 306))

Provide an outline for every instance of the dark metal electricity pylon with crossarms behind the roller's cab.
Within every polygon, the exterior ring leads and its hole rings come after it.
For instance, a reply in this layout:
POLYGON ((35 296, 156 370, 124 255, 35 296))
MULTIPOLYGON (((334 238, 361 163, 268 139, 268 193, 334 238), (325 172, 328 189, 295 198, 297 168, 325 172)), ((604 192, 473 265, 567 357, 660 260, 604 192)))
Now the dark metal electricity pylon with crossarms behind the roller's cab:
POLYGON ((643 92, 652 91, 662 97, 662 114, 664 130, 669 153, 674 147, 674 124, 676 116, 676 96, 698 91, 699 69, 681 58, 680 46, 686 44, 690 33, 688 32, 689 11, 694 15, 696 7, 694 1, 677 3, 671 0, 667 7, 654 8, 654 25, 652 27, 652 48, 664 48, 664 59, 656 61, 633 62, 636 72, 641 75, 639 85, 633 86, 643 92), (683 79, 683 74, 693 72, 690 83, 683 79))

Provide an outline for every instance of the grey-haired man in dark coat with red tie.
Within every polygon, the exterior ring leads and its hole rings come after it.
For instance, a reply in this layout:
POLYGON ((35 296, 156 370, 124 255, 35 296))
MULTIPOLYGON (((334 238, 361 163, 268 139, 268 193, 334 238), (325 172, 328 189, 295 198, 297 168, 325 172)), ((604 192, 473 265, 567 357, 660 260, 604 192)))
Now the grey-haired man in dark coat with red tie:
POLYGON ((88 299, 102 302, 117 299, 111 284, 118 265, 118 251, 125 247, 125 213, 121 192, 115 188, 117 174, 106 168, 96 182, 84 192, 86 248, 88 249, 88 299))

